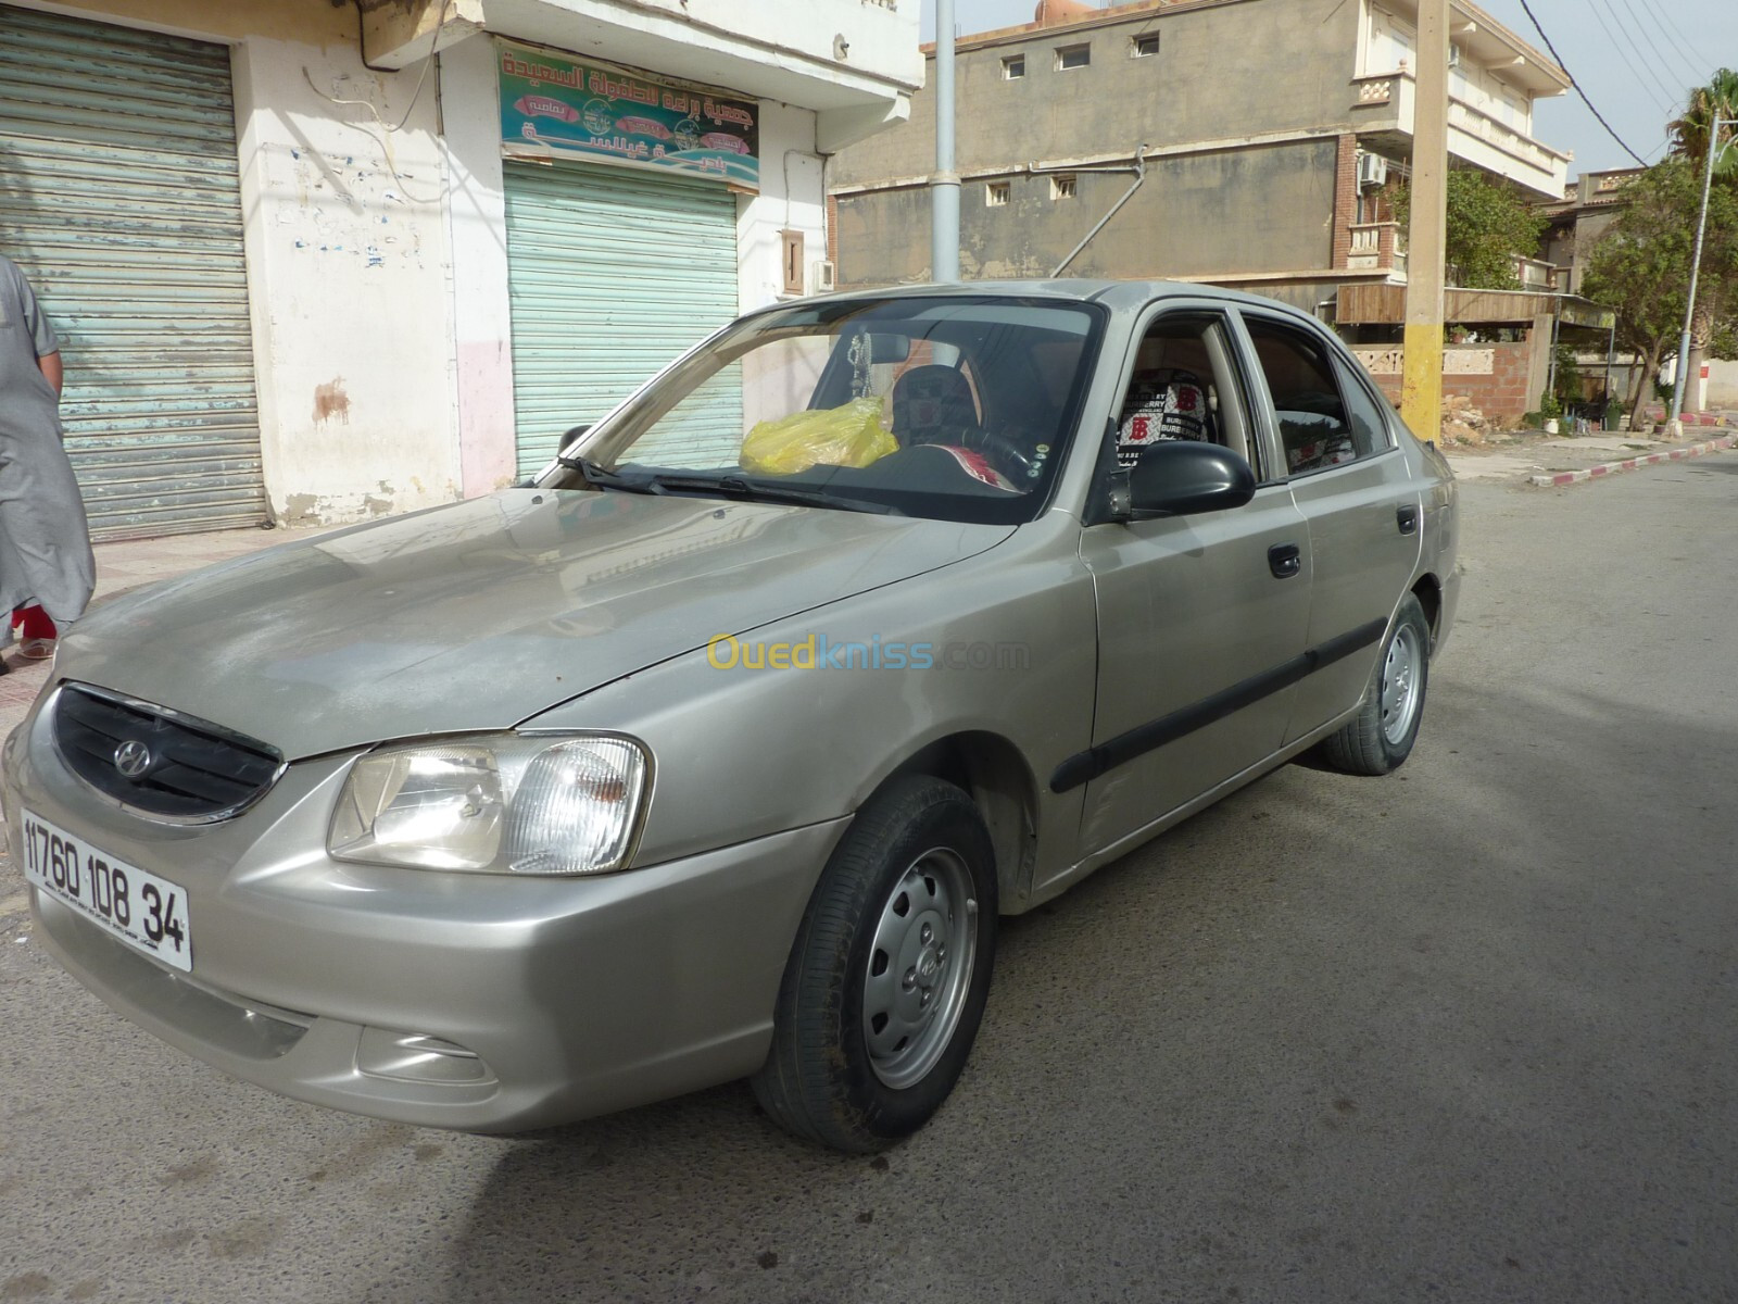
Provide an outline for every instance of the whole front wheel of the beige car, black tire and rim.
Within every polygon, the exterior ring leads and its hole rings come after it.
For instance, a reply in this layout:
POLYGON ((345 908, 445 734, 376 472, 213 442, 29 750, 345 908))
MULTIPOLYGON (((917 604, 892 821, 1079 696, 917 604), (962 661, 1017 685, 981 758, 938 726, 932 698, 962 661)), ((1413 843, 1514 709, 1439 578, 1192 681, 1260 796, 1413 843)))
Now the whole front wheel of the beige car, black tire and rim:
POLYGON ((815 885, 753 1078, 786 1130, 871 1153, 923 1127, 965 1068, 996 958, 996 857, 977 807, 899 779, 815 885))

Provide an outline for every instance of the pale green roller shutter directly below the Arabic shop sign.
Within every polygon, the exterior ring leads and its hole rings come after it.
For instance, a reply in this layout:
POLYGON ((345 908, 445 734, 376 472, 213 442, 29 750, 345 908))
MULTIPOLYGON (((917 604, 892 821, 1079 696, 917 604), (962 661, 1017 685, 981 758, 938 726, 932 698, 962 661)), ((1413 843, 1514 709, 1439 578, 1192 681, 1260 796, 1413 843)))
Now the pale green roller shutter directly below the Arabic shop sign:
POLYGON ((633 169, 506 163, 520 473, 737 315, 737 200, 633 169))

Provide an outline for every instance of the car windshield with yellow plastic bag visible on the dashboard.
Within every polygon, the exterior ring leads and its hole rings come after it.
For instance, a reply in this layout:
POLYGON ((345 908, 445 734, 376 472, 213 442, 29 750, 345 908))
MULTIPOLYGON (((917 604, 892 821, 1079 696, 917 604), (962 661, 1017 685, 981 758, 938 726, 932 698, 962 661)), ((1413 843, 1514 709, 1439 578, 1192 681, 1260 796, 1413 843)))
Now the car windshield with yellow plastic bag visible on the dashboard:
POLYGON ((1104 309, 888 296, 730 327, 565 450, 553 489, 1018 523, 1067 452, 1104 309))

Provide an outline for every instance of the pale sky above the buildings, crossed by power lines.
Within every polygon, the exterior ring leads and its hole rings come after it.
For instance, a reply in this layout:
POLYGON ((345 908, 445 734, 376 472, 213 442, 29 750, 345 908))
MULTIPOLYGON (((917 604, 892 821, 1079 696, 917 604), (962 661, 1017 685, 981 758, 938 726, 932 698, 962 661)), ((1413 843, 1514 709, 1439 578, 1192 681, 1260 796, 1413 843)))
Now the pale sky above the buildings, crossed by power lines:
MULTIPOLYGON (((1521 0, 1476 0, 1491 17, 1549 56, 1521 0)), ((935 38, 935 0, 921 0, 923 38, 935 38)), ((1649 163, 1665 153, 1665 123, 1691 87, 1721 64, 1738 68, 1738 0, 1526 0, 1601 116, 1649 163)), ((1031 23, 1036 0, 954 0, 963 35, 1031 23)), ((1569 176, 1634 167, 1575 90, 1542 99, 1533 136, 1573 151, 1569 176)))

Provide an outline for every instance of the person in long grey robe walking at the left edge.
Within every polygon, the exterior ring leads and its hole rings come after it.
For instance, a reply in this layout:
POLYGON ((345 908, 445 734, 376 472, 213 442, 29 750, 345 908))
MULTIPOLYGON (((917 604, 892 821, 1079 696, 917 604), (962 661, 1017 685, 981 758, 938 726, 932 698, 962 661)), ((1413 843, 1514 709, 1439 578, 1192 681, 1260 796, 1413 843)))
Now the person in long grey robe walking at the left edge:
POLYGON ((24 273, 0 254, 0 612, 14 614, 33 657, 54 650, 57 626, 83 615, 96 584, 63 438, 61 341, 24 273))

